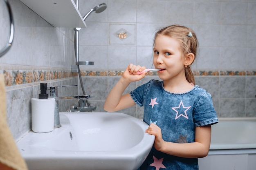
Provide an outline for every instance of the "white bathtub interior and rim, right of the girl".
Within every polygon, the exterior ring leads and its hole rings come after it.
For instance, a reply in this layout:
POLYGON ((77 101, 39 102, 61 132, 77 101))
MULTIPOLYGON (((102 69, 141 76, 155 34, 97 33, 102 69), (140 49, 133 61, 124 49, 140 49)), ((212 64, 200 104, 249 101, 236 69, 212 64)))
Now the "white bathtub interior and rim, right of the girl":
POLYGON ((211 129, 210 151, 256 149, 256 118, 220 118, 211 129))

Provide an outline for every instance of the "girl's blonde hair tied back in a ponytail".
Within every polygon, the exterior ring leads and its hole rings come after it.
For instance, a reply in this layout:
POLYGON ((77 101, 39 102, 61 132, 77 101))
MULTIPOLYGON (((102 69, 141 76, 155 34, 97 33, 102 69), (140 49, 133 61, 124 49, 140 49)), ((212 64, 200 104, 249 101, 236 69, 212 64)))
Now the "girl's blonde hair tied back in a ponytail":
MULTIPOLYGON (((175 38, 180 42, 180 47, 182 49, 184 56, 188 53, 193 53, 196 57, 197 50, 198 50, 198 40, 196 38, 195 32, 192 29, 189 29, 186 26, 181 26, 181 25, 171 25, 157 31, 157 33, 155 33, 155 38, 158 35, 166 35, 168 37, 175 38)), ((154 38, 154 44, 155 44, 155 38, 154 38)), ((186 80, 189 83, 195 84, 195 78, 191 70, 191 67, 184 66, 184 69, 185 69, 186 80)))

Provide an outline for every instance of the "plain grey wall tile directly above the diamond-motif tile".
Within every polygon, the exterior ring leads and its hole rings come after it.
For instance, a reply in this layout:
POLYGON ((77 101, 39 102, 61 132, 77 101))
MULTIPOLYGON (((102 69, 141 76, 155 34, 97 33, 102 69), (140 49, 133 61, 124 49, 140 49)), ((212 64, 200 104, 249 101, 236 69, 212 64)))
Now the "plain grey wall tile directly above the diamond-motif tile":
POLYGON ((136 22, 137 0, 108 0, 108 22, 136 22))

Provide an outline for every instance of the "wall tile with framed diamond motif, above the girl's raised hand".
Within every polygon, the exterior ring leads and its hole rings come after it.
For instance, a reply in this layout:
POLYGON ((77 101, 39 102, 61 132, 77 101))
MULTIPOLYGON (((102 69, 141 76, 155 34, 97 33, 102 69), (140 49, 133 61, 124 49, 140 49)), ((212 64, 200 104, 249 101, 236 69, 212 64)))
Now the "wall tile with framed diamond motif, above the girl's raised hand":
POLYGON ((136 45, 135 24, 109 24, 110 45, 136 45), (121 37, 122 33, 126 38, 121 37))

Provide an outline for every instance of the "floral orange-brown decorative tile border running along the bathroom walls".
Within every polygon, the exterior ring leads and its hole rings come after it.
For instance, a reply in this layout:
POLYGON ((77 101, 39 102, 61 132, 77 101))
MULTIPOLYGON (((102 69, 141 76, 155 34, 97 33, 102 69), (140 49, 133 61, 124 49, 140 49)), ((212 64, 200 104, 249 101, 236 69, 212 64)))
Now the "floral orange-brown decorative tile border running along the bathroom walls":
MULTIPOLYGON (((75 77, 78 73, 73 73, 71 70, 9 70, 1 71, 4 74, 6 86, 15 86, 19 84, 29 84, 35 82, 43 82, 49 80, 58 80, 69 77, 75 77)), ((124 71, 81 71, 82 76, 121 76, 124 71)), ((156 72, 148 72, 147 75, 157 76, 156 72)), ((256 71, 193 71, 195 76, 254 76, 256 71)))

